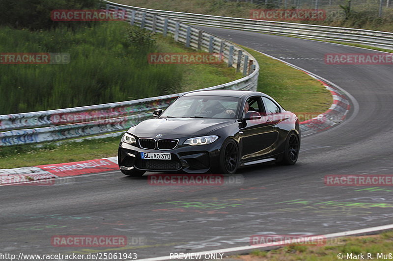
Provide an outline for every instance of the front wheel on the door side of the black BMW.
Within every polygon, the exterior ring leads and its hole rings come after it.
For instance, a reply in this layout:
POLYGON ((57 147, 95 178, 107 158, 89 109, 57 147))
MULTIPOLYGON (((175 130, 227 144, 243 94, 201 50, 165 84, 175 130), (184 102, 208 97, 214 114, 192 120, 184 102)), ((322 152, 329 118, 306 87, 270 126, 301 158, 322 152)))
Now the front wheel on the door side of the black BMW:
POLYGON ((239 164, 239 147, 233 140, 227 140, 220 153, 220 171, 224 174, 236 172, 239 164))

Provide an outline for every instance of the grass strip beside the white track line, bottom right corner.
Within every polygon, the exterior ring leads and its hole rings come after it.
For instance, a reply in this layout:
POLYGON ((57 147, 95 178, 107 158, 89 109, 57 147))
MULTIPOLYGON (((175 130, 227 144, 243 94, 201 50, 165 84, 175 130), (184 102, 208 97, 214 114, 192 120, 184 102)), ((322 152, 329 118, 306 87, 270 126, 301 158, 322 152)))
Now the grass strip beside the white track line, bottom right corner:
MULTIPOLYGON (((347 260, 348 254, 371 254, 372 260, 378 259, 378 253, 389 255, 392 253, 393 232, 384 232, 374 236, 340 237, 327 239, 324 246, 287 245, 279 249, 264 251, 254 250, 250 255, 233 256, 232 259, 244 261, 337 261, 339 253, 344 255, 342 260, 347 260)), ((356 259, 358 260, 358 259, 356 259)), ((368 259, 371 260, 371 259, 368 259)))

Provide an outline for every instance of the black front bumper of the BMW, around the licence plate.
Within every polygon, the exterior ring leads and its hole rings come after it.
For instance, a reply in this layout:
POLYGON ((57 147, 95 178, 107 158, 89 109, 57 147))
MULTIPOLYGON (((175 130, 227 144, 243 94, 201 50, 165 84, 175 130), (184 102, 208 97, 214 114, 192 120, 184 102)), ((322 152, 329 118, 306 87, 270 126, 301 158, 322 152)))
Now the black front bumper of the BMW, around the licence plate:
POLYGON ((136 169, 156 172, 185 171, 205 173, 215 171, 220 159, 220 142, 199 146, 179 146, 171 150, 146 150, 129 143, 120 142, 118 164, 122 169, 136 169), (142 159, 141 152, 170 153, 170 160, 142 159))

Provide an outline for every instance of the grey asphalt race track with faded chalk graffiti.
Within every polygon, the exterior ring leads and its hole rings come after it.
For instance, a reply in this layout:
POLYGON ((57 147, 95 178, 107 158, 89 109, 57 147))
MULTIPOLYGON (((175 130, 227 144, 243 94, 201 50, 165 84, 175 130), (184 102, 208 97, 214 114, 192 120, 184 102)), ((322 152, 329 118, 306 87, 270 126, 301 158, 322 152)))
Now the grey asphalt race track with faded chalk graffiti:
MULTIPOLYGON (((328 65, 325 53, 374 51, 291 37, 203 27, 281 58, 352 97, 347 119, 302 139, 295 166, 262 165, 220 186, 152 186, 120 171, 2 186, 0 252, 170 253, 249 245, 256 234, 320 235, 393 223, 392 187, 325 186, 325 175, 393 174, 392 65, 328 65), (119 235, 124 247, 57 247, 56 235, 119 235)), ((264 77, 264 72, 260 72, 264 77)))

